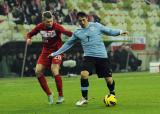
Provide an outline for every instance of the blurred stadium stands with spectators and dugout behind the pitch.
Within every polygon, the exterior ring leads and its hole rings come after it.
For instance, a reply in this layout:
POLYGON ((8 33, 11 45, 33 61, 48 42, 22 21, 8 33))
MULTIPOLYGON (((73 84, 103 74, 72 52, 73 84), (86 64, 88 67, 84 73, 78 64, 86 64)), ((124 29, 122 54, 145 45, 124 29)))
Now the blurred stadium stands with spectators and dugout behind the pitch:
MULTIPOLYGON (((104 37, 113 72, 149 71, 151 62, 160 62, 159 0, 0 0, 0 77, 22 76, 24 36, 41 22, 45 10, 52 11, 54 20, 72 31, 78 26, 77 11, 87 12, 90 21, 128 30, 129 36, 104 37)), ((24 76, 35 76, 40 51, 41 36, 37 35, 28 47, 24 76)), ((81 59, 81 46, 76 44, 64 60, 75 60, 77 66, 62 65, 62 74, 79 74, 81 59)))

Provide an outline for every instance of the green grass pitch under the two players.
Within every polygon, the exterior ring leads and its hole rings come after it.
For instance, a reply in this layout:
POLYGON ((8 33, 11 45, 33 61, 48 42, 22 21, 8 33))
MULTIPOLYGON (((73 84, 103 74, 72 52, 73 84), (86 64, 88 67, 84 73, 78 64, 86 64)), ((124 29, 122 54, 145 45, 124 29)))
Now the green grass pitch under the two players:
MULTIPOLYGON (((35 77, 0 79, 0 114, 159 114, 160 74, 113 73, 116 81, 115 107, 106 107, 104 96, 108 93, 105 81, 90 77, 89 104, 77 107, 81 98, 80 76, 63 78, 65 102, 48 105, 47 97, 35 77)), ((53 78, 47 78, 55 100, 57 92, 53 78)))

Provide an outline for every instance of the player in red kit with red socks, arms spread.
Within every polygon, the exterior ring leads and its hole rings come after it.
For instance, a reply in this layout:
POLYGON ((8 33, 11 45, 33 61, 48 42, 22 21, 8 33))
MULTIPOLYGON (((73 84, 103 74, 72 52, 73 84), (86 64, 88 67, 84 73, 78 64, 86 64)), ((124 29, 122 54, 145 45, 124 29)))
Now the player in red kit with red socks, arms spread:
POLYGON ((52 13, 50 11, 45 11, 42 14, 42 23, 38 24, 31 32, 27 33, 26 43, 31 44, 32 36, 38 33, 40 33, 42 36, 43 48, 37 61, 35 73, 42 89, 48 96, 48 103, 53 104, 53 94, 50 91, 44 76, 44 70, 46 68, 51 69, 52 74, 55 78, 56 87, 59 95, 57 100, 57 104, 59 104, 64 101, 62 79, 59 73, 63 54, 58 55, 52 59, 48 58, 48 55, 51 54, 53 51, 57 51, 62 46, 62 33, 70 37, 72 36, 72 32, 64 29, 58 23, 53 22, 52 13))

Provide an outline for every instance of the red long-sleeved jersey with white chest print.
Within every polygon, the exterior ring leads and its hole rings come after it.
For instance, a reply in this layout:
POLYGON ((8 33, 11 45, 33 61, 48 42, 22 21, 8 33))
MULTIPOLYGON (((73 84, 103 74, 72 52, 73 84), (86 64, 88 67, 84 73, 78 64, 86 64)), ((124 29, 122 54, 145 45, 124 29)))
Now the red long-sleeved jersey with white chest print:
POLYGON ((62 46, 61 34, 72 36, 72 32, 64 29, 60 24, 53 22, 51 28, 46 28, 44 23, 38 24, 31 32, 27 34, 29 38, 40 33, 42 36, 43 50, 57 51, 62 46))

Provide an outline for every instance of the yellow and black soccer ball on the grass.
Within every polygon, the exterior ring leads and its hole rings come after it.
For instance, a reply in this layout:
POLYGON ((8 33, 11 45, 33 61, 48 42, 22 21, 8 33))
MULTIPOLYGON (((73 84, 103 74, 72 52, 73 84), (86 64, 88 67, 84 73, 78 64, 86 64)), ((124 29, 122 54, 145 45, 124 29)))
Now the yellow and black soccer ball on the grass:
POLYGON ((106 106, 115 106, 117 104, 117 99, 116 99, 115 95, 112 95, 112 94, 106 95, 104 97, 104 104, 106 106))

